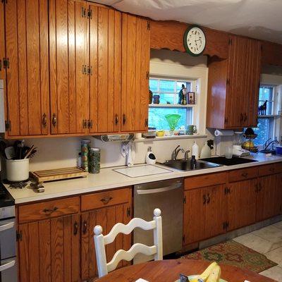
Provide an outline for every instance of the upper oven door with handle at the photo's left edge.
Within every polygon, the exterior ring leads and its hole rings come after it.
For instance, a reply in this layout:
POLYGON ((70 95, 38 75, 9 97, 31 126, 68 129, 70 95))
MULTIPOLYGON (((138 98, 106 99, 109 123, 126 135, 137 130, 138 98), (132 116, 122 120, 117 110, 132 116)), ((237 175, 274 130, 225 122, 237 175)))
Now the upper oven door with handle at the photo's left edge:
POLYGON ((15 219, 0 221, 0 259, 16 257, 16 222, 15 219))

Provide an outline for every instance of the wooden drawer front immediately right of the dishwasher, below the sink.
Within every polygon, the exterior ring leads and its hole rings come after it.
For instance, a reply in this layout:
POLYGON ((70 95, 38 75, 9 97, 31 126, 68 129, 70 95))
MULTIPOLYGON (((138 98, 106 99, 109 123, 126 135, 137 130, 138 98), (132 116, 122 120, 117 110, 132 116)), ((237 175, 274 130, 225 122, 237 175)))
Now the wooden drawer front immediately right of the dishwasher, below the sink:
POLYGON ((219 185, 226 183, 226 180, 227 173, 212 173, 204 176, 188 177, 184 180, 184 190, 219 185))

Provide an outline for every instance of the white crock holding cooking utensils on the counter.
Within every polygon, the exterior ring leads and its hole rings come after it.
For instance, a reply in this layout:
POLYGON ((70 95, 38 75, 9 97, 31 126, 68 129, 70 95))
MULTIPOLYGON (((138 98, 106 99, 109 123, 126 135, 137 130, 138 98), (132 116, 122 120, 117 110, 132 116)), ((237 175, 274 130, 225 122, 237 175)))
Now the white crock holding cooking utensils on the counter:
POLYGON ((6 159, 6 177, 9 181, 27 180, 30 173, 30 159, 6 159))

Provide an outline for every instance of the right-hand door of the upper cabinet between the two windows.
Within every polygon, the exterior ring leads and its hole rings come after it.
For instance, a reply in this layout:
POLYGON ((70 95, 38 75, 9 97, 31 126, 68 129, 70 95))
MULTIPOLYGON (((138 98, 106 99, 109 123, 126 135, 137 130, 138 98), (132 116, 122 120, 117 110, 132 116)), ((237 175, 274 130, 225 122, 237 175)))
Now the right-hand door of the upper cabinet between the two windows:
POLYGON ((259 102, 259 80, 261 73, 262 44, 258 40, 247 39, 245 66, 245 91, 241 95, 243 126, 257 126, 259 102))

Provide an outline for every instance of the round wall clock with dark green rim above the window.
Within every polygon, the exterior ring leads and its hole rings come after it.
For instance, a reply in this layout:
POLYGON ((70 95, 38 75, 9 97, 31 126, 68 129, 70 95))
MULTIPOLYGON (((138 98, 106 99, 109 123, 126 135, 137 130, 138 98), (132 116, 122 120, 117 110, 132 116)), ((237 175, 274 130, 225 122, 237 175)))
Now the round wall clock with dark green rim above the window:
POLYGON ((184 35, 184 46, 192 56, 200 56, 206 47, 206 37, 200 27, 188 27, 184 35))

